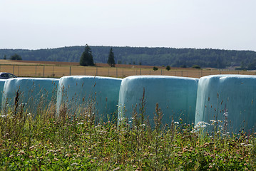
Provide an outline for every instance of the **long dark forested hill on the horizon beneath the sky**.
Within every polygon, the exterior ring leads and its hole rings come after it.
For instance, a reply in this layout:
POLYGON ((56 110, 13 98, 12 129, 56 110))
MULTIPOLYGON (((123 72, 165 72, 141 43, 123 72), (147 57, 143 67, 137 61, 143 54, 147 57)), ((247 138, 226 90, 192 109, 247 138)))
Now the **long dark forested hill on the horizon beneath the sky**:
MULTIPOLYGON (((107 63, 110 46, 90 46, 95 63, 107 63)), ((15 53, 29 61, 78 62, 85 46, 47 48, 39 50, 0 49, 0 58, 15 53)), ((256 67, 255 51, 230 51, 196 48, 113 47, 116 63, 148 66, 187 66, 226 68, 228 66, 256 67)))

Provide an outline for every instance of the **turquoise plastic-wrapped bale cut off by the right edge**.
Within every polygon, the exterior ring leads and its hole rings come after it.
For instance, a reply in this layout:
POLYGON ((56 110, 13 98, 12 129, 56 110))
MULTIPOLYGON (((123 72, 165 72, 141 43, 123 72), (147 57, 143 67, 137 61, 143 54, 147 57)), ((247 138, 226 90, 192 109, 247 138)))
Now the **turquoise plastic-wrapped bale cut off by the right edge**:
MULTIPOLYGON (((223 132, 256 126, 256 76, 216 75, 200 78, 195 124, 214 125, 223 132)), ((212 128, 210 128, 212 129, 212 128)))

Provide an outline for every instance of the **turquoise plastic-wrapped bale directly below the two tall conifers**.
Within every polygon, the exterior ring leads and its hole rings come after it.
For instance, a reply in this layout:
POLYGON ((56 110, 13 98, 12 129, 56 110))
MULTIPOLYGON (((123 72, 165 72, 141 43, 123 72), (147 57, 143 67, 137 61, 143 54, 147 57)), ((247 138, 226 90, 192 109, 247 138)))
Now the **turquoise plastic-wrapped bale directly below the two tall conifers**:
POLYGON ((64 76, 58 85, 56 115, 80 115, 93 108, 95 121, 117 118, 122 79, 98 76, 64 76))

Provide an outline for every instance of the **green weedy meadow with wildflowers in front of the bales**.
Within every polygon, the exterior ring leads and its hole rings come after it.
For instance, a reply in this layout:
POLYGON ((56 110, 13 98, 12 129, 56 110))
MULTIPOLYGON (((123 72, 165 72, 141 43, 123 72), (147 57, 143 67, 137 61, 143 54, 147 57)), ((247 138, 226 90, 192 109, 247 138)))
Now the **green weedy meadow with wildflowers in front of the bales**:
POLYGON ((61 118, 35 117, 16 105, 0 117, 0 170, 256 170, 256 135, 193 130, 172 122, 94 124, 90 110, 61 118))

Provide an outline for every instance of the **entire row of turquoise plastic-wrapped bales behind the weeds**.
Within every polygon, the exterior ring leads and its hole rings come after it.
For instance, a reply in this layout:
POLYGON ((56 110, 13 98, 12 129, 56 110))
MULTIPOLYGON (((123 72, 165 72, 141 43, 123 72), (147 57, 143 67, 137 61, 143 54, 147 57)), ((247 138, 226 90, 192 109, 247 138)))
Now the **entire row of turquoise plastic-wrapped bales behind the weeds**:
POLYGON ((132 123, 143 113, 153 126, 158 104, 163 125, 222 123, 234 133, 250 133, 256 126, 256 76, 11 78, 0 81, 0 90, 2 116, 19 104, 32 115, 49 108, 57 117, 93 113, 97 123, 132 123))

